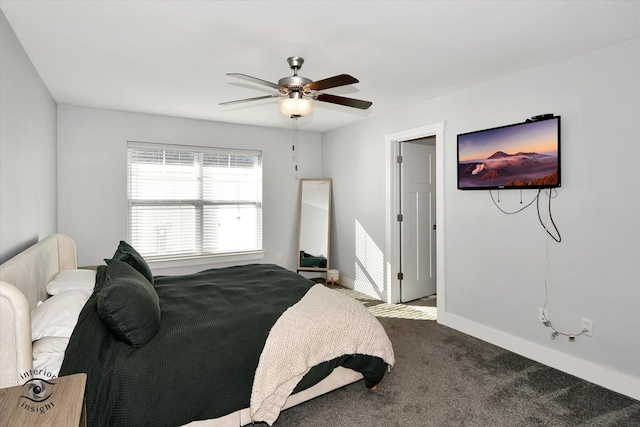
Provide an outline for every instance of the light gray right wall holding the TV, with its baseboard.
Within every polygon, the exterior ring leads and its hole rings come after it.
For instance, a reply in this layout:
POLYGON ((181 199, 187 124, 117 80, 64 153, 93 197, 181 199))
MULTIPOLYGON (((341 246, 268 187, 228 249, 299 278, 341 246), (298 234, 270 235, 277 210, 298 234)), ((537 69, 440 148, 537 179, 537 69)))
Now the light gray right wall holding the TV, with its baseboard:
MULTIPOLYGON (((384 253, 385 135, 445 122, 439 322, 640 398, 638 76, 635 39, 323 134, 323 173, 334 183, 332 266, 344 283, 370 289, 356 275, 355 230, 384 253), (562 243, 547 237, 535 207, 507 216, 488 192, 456 189, 457 134, 541 113, 562 116, 562 188, 552 204, 562 243), (545 281, 556 328, 580 331, 585 317, 593 337, 550 340, 537 321, 545 281)), ((523 192, 525 201, 534 196, 523 192)), ((503 209, 521 206, 519 191, 500 198, 503 209)))

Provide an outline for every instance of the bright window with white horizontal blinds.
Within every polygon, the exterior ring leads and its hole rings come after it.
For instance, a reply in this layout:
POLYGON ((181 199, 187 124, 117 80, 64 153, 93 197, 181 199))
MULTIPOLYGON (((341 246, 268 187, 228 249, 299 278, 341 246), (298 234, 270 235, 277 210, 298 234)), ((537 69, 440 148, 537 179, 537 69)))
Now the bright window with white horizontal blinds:
POLYGON ((259 151, 129 142, 129 243, 145 258, 262 250, 259 151))

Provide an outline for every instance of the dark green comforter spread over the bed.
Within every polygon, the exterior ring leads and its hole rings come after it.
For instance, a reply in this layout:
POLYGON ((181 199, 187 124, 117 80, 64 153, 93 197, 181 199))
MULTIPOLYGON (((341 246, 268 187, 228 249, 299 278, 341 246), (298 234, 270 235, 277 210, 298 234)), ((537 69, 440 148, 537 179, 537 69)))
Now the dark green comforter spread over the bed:
MULTIPOLYGON (((99 271, 96 289, 101 276, 99 271)), ((111 336, 94 293, 80 314, 60 375, 88 374, 89 426, 176 426, 247 408, 269 330, 313 284, 269 264, 158 276, 160 330, 141 348, 111 336)), ((312 369, 295 391, 338 365, 363 372, 369 387, 386 369, 379 358, 345 355, 312 369)))

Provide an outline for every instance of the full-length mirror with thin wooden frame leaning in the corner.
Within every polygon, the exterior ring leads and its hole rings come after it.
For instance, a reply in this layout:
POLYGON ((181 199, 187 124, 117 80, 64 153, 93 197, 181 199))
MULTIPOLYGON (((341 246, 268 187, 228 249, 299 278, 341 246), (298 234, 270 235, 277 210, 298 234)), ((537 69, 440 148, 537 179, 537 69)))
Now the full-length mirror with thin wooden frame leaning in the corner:
POLYGON ((331 178, 301 179, 298 271, 329 269, 331 178))

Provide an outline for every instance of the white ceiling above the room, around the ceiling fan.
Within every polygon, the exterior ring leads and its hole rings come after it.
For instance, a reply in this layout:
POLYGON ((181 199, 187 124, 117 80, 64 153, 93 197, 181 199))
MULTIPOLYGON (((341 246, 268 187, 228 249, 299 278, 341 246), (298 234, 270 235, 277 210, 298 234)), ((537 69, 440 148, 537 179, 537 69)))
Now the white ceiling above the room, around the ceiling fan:
POLYGON ((324 132, 545 63, 640 37, 639 1, 6 1, 13 30, 59 104, 291 127, 275 90, 347 73, 301 130, 324 132))

